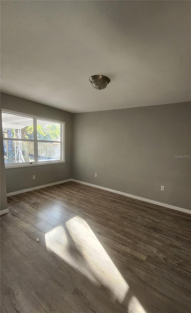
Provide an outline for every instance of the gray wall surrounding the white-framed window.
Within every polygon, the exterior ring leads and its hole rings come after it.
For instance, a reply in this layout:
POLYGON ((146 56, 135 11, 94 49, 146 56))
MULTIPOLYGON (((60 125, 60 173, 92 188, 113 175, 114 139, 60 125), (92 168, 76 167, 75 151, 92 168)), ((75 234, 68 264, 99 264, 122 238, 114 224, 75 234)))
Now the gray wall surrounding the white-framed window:
POLYGON ((65 163, 6 169, 7 192, 71 178, 73 114, 4 93, 1 93, 1 107, 66 122, 65 163), (32 179, 33 175, 36 180, 32 179))

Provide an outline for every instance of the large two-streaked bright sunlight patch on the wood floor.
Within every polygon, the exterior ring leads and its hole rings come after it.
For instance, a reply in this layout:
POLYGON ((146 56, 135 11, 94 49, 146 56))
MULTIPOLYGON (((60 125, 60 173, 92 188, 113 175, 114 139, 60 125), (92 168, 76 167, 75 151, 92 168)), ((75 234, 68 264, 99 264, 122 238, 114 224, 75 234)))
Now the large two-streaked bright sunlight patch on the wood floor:
POLYGON ((122 303, 129 286, 90 226, 79 216, 65 225, 65 228, 58 225, 45 234, 47 249, 96 285, 104 285, 112 293, 113 300, 122 303))

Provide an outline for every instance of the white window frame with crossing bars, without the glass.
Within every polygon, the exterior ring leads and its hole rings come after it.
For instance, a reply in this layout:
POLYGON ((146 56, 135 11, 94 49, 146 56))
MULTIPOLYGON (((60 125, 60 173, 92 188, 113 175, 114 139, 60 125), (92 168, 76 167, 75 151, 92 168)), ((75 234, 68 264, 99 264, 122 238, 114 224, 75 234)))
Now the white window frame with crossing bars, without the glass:
POLYGON ((1 113, 9 113, 14 114, 18 116, 24 116, 29 117, 33 119, 33 139, 19 139, 18 138, 3 138, 3 140, 11 140, 11 141, 33 141, 34 142, 34 156, 35 160, 34 162, 23 162, 23 163, 5 163, 5 168, 16 168, 16 167, 28 167, 28 166, 39 166, 39 165, 48 165, 48 164, 58 164, 58 163, 65 163, 65 122, 64 121, 58 121, 58 120, 52 120, 50 118, 17 112, 13 110, 7 110, 2 109, 1 113), (60 141, 56 140, 37 140, 37 120, 42 121, 49 121, 53 123, 59 123, 61 124, 61 138, 60 141), (61 144, 61 159, 56 161, 38 161, 38 142, 56 142, 61 144))

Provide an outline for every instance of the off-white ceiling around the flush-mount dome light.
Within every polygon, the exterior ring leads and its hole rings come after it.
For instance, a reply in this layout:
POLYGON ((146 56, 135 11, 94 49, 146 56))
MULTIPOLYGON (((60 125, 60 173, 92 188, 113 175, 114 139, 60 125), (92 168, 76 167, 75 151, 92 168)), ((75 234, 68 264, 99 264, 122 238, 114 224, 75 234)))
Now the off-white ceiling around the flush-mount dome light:
POLYGON ((1 90, 70 112, 191 100, 190 1, 1 1, 1 90), (105 90, 89 82, 110 77, 105 90))

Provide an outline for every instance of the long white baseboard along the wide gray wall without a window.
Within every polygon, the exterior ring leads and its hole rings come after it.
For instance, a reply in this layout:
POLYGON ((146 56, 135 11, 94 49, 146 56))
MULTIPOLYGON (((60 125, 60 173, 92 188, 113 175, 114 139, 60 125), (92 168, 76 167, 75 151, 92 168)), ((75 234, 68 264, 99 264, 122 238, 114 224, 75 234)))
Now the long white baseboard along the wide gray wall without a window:
POLYGON ((103 189, 103 190, 106 190, 106 191, 109 191, 109 192, 118 193, 118 194, 120 194, 122 196, 125 196, 125 197, 129 197, 129 198, 137 199, 137 200, 140 200, 140 201, 156 204, 156 205, 159 205, 159 206, 164 207, 164 208, 169 208, 169 209, 173 209, 173 210, 176 210, 176 211, 180 211, 180 212, 191 214, 191 210, 175 207, 174 205, 171 205, 171 204, 166 204, 166 203, 162 203, 162 202, 158 202, 158 201, 154 201, 154 200, 150 200, 150 199, 134 196, 134 195, 131 195, 130 193, 121 192, 121 191, 118 191, 118 190, 114 190, 114 189, 110 189, 110 188, 106 188, 106 187, 90 184, 89 182, 81 182, 80 180, 76 180, 76 179, 71 179, 71 181, 72 182, 78 182, 78 183, 83 184, 83 185, 87 185, 87 186, 103 189))

